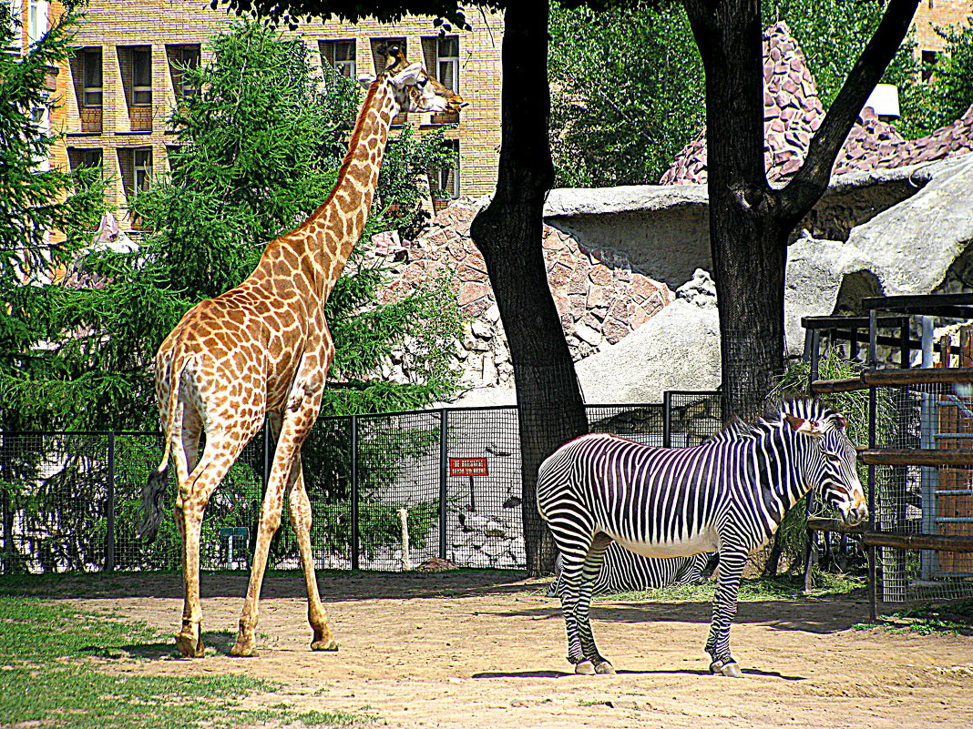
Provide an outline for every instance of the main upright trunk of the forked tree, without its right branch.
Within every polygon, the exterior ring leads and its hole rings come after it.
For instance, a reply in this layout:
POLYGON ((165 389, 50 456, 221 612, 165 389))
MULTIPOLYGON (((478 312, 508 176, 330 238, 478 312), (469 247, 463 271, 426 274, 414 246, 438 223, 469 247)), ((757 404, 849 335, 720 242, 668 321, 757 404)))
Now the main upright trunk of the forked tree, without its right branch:
POLYGON ((706 79, 709 245, 729 414, 763 414, 783 364, 787 231, 764 168, 759 0, 686 0, 706 79))

